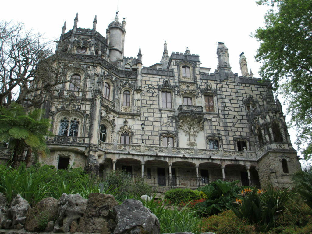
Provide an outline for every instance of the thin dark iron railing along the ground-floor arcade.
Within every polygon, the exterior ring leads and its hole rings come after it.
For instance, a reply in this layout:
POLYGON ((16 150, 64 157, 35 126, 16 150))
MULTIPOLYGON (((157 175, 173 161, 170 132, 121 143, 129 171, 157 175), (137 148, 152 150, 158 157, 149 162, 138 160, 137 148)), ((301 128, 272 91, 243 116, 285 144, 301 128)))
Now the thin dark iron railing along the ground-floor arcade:
POLYGON ((138 175, 128 174, 127 179, 132 183, 146 183, 151 186, 169 186, 169 187, 185 187, 185 188, 198 188, 203 187, 211 182, 217 180, 234 182, 238 181, 238 186, 252 186, 259 187, 259 180, 236 179, 236 178, 208 178, 208 177, 186 177, 186 176, 161 176, 161 175, 138 175))

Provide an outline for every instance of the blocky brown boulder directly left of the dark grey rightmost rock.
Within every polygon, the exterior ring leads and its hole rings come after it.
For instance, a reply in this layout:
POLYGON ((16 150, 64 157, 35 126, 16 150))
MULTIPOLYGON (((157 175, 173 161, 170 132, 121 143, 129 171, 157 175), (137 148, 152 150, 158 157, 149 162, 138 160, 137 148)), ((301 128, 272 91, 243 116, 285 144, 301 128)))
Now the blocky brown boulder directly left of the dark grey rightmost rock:
POLYGON ((109 220, 113 219, 113 207, 118 206, 115 197, 110 194, 90 193, 85 215, 80 219, 78 232, 108 233, 111 231, 109 220), (104 228, 104 230, 102 230, 104 228))

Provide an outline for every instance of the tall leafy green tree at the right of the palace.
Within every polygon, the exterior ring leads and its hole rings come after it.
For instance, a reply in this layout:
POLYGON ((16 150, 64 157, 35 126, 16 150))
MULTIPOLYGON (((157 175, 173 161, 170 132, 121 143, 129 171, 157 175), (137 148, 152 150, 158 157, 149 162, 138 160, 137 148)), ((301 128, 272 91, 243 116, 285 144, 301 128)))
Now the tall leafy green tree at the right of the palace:
POLYGON ((297 131, 296 144, 305 159, 312 155, 312 0, 260 0, 272 8, 265 27, 254 35, 260 41, 256 60, 260 75, 273 80, 284 96, 297 131), (283 82, 282 82, 283 81, 283 82), (282 83, 281 83, 282 82, 282 83), (303 145, 307 145, 303 149, 303 145))

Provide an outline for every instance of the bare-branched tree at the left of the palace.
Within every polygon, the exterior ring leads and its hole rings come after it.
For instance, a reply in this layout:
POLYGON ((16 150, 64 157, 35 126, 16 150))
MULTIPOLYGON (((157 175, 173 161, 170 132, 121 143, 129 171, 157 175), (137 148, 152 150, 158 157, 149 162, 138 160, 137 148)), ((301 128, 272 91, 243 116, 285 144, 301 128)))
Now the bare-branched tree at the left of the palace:
POLYGON ((0 106, 17 102, 38 108, 60 91, 68 64, 42 34, 27 31, 22 23, 0 22, 0 106))

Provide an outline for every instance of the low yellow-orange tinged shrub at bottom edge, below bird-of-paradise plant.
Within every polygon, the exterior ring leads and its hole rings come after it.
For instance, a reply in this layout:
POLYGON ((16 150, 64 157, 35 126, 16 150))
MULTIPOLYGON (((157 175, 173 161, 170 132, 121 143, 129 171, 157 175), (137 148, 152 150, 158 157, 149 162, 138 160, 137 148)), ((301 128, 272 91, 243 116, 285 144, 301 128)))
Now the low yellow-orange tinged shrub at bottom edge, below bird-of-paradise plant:
POLYGON ((241 234, 255 233, 255 230, 255 226, 251 225, 244 218, 238 218, 230 210, 202 218, 202 232, 241 234))

